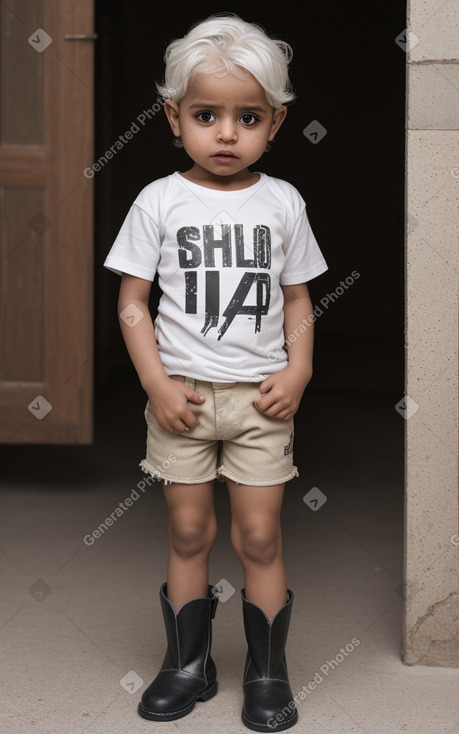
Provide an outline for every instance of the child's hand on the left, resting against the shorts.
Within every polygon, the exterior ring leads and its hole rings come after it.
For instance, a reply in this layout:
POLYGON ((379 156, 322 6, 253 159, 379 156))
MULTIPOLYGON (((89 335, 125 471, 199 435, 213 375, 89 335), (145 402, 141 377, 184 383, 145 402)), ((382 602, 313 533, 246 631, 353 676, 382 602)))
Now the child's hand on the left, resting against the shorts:
POLYGON ((156 420, 168 433, 183 433, 199 423, 187 403, 200 404, 205 397, 183 382, 167 377, 147 394, 156 420))

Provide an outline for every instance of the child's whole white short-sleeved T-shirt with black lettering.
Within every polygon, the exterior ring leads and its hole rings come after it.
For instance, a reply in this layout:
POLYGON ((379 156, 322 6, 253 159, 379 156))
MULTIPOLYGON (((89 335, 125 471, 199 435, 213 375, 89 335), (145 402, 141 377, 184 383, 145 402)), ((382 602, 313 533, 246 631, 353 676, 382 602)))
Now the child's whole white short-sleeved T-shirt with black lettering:
POLYGON ((153 181, 105 260, 118 274, 158 272, 155 335, 169 375, 261 382, 288 364, 280 285, 305 283, 327 264, 297 189, 259 175, 238 191, 177 171, 153 181))

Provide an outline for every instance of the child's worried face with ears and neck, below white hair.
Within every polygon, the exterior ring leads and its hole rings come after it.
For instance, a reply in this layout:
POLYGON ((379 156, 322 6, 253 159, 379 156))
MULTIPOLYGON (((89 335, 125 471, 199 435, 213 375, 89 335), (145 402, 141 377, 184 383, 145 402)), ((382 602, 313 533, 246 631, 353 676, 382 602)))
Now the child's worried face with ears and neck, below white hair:
POLYGON ((286 107, 271 107, 263 87, 246 74, 246 79, 198 74, 178 104, 168 100, 164 105, 174 135, 194 161, 196 180, 252 177, 247 167, 261 157, 285 118, 286 107))

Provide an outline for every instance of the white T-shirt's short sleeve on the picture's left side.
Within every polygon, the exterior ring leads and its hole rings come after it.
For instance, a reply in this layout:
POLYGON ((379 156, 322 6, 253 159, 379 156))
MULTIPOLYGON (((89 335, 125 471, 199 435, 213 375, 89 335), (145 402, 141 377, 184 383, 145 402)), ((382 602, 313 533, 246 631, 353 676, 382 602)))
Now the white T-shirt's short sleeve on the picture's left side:
POLYGON ((134 202, 105 259, 104 267, 117 275, 129 273, 153 281, 159 252, 158 225, 134 202))

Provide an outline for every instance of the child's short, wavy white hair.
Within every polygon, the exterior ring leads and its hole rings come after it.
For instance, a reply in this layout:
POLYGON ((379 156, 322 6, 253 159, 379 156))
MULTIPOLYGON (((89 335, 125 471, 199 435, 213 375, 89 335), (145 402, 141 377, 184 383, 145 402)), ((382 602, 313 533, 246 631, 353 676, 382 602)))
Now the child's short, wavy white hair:
POLYGON ((270 38, 263 28, 247 23, 234 14, 211 15, 192 26, 183 38, 168 45, 164 84, 157 84, 164 99, 179 102, 186 94, 193 74, 226 72, 245 78, 250 72, 263 87, 272 107, 295 99, 288 76, 293 56, 285 41, 270 38))

